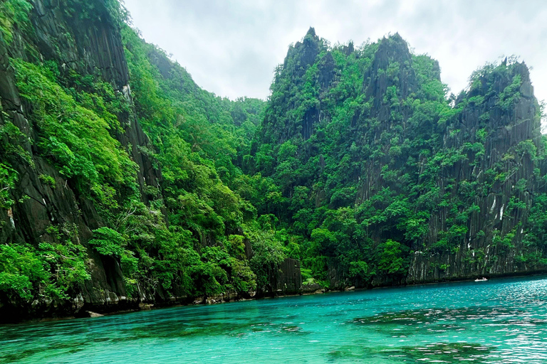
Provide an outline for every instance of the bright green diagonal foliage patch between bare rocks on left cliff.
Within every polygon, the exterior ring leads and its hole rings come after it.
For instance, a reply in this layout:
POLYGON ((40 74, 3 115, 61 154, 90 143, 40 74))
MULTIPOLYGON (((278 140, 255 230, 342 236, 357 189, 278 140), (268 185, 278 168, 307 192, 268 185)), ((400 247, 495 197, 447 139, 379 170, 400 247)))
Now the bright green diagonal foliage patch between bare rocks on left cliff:
POLYGON ((20 59, 12 65, 21 96, 33 105, 40 154, 51 159, 80 193, 100 204, 117 207, 117 194, 121 192, 118 200, 135 195, 137 167, 115 139, 118 120, 108 110, 95 111, 95 105, 105 104, 103 97, 95 93, 95 100, 88 102, 87 92, 63 90, 47 65, 20 59))

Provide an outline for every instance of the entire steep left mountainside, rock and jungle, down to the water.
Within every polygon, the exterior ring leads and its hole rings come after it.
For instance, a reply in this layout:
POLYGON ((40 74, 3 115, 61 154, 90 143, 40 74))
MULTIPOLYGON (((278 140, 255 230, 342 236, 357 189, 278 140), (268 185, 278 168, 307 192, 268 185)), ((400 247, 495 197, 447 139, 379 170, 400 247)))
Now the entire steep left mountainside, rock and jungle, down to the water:
POLYGON ((1 321, 298 289, 229 187, 264 102, 197 87, 118 1, 0 13, 1 321))

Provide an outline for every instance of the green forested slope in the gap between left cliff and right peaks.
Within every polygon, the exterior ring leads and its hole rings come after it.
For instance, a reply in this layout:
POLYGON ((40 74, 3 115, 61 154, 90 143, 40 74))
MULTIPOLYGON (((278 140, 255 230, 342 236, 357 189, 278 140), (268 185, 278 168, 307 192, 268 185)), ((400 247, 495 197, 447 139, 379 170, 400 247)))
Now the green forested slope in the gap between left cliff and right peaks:
POLYGON ((127 26, 123 41, 136 117, 155 147, 147 152, 162 168, 162 194, 152 205, 167 210, 170 228, 161 238, 174 240, 169 263, 160 264, 170 277, 165 288, 177 284, 194 295, 254 289, 255 274, 236 236, 255 209, 230 187, 242 176, 236 163, 263 102, 231 102, 200 89, 184 68, 127 26))

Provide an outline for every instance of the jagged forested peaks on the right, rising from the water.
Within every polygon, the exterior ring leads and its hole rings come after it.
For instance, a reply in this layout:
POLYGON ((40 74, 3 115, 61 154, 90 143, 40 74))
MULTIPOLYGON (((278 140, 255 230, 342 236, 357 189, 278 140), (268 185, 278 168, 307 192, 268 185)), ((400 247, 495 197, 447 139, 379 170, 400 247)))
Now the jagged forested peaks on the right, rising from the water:
POLYGON ((449 96, 395 34, 331 47, 313 28, 276 70, 245 168, 254 200, 330 287, 544 271, 545 140, 528 68, 486 65, 449 96), (273 197, 273 195, 271 195, 273 197))

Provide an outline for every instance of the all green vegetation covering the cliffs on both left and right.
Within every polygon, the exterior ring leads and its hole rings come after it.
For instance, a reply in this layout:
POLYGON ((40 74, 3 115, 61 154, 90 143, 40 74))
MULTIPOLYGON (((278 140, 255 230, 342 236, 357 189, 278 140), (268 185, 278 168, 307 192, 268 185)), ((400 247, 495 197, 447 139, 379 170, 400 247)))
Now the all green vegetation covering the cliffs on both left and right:
MULTIPOLYGON (((469 244, 479 244, 465 251, 469 264, 496 261, 487 245, 496 257, 518 249, 515 264, 547 264, 547 154, 516 115, 521 63, 486 65, 455 97, 437 62, 398 34, 356 47, 311 28, 276 68, 268 102, 231 101, 145 43, 117 1, 61 2, 67 22, 100 14, 120 28, 131 91, 84 60, 11 58, 32 133, 2 110, 0 208, 29 198, 15 197, 19 171, 43 159, 56 173, 36 181, 71 188, 98 217, 89 241, 51 219, 40 242, 1 245, 0 299, 66 301, 90 279, 91 255, 119 264, 128 296, 166 298, 268 291, 287 257, 306 284, 331 287, 403 283, 415 254, 447 274, 437 257, 469 244), (136 152, 126 142, 135 122, 149 139, 136 152), (503 141, 512 128, 529 139, 503 141), (161 178, 143 178, 135 154, 161 178)), ((7 43, 16 29, 32 42, 30 11, 24 0, 0 4, 7 43)))

